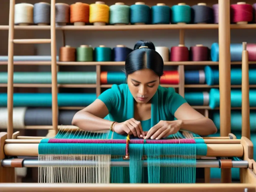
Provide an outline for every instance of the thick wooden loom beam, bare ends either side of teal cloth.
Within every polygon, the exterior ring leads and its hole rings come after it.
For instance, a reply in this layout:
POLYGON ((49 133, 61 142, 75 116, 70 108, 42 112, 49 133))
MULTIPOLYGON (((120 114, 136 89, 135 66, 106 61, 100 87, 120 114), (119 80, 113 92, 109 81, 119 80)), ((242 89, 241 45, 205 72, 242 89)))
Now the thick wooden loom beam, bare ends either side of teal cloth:
MULTIPOLYGON (((38 143, 8 143, 4 145, 7 156, 38 156, 38 143)), ((241 144, 207 144, 208 157, 241 157, 241 144)))

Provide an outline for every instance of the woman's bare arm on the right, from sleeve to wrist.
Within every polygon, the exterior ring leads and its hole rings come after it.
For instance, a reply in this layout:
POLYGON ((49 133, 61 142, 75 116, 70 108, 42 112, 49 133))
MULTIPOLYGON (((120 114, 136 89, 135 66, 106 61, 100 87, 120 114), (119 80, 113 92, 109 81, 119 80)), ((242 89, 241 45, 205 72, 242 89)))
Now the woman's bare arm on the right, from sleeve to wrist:
POLYGON ((180 105, 174 116, 182 120, 181 130, 190 131, 201 136, 207 136, 217 132, 214 122, 197 112, 188 103, 180 105))

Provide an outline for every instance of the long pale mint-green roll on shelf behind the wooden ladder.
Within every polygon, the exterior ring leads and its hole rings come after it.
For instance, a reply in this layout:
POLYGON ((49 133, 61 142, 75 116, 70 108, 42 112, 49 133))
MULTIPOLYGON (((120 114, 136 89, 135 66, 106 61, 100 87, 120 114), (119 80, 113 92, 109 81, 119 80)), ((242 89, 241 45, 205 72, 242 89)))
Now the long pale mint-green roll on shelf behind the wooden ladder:
MULTIPOLYGON (((7 83, 7 72, 0 72, 0 83, 7 83)), ((59 84, 96 84, 96 72, 58 72, 59 84)), ((13 83, 50 84, 51 72, 14 72, 13 83)))

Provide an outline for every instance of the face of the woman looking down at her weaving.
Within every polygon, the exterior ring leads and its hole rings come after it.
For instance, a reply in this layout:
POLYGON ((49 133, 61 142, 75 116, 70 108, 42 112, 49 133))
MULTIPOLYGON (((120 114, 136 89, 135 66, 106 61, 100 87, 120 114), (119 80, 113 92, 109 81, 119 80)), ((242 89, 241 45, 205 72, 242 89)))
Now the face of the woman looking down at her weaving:
POLYGON ((156 93, 159 77, 151 69, 142 69, 129 74, 127 84, 138 103, 147 103, 156 93))

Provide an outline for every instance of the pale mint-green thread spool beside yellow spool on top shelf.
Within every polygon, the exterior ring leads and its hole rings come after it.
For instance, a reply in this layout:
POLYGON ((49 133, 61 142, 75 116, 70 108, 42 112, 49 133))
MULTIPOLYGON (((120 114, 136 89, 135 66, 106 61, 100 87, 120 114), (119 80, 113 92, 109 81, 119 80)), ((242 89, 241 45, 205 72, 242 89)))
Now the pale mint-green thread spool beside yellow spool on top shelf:
POLYGON ((130 23, 130 6, 124 3, 115 3, 109 7, 109 23, 111 25, 130 23))

